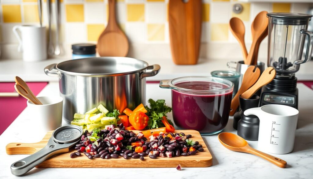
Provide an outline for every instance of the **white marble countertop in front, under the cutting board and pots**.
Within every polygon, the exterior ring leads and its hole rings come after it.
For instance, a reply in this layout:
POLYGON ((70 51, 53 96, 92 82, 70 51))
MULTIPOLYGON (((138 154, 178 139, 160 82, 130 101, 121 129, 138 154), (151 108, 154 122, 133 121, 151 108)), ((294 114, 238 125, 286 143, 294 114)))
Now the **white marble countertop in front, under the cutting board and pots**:
MULTIPOLYGON (((147 84, 147 99, 165 99, 171 105, 171 92, 158 84, 147 84)), ((287 168, 279 168, 257 156, 224 148, 217 135, 203 136, 213 156, 213 166, 207 168, 35 168, 23 178, 312 178, 313 176, 313 91, 299 83, 299 122, 293 152, 275 155, 287 161, 287 168), (87 176, 87 173, 89 176, 87 176)), ((58 83, 49 83, 38 96, 59 95, 58 83)), ((11 142, 40 141, 44 132, 36 129, 27 108, 0 136, 0 178, 18 178, 11 174, 10 165, 28 155, 7 155, 5 146, 11 142)), ((172 119, 172 115, 168 115, 172 119)), ((236 133, 230 118, 224 132, 236 133)), ((248 141, 257 148, 257 141, 248 141)), ((131 162, 131 160, 130 160, 131 162)))

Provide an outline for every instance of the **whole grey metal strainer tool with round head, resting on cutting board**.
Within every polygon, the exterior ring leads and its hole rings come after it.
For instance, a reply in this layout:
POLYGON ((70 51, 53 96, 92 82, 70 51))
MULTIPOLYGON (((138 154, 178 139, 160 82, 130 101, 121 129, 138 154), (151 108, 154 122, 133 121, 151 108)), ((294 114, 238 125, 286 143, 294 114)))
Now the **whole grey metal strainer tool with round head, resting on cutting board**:
POLYGON ((66 125, 55 129, 48 144, 38 152, 11 165, 13 175, 23 175, 53 155, 65 153, 83 135, 83 129, 76 125, 66 125))

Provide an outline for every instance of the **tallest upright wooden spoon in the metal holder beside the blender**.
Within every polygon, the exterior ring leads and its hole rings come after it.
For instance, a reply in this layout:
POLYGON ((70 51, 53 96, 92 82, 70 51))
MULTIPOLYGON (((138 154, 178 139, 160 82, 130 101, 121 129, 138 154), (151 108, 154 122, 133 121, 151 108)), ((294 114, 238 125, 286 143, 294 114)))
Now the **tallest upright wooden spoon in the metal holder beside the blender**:
POLYGON ((252 57, 254 56, 254 50, 258 40, 261 38, 262 34, 268 28, 269 19, 266 17, 266 11, 260 12, 255 18, 252 26, 252 45, 248 54, 247 59, 244 64, 251 65, 252 57))

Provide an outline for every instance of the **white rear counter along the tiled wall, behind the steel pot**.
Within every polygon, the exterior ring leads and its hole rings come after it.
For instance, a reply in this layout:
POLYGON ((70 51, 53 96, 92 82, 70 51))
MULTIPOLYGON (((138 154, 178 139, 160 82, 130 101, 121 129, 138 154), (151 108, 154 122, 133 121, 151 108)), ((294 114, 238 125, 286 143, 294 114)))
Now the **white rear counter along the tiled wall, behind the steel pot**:
MULTIPOLYGON (((47 76, 44 67, 66 61, 68 58, 48 59, 37 62, 25 62, 21 59, 0 60, 0 82, 14 82, 15 76, 20 76, 26 82, 56 82, 57 77, 47 76)), ((161 71, 156 76, 148 77, 147 81, 160 81, 182 76, 211 76, 214 70, 231 70, 226 64, 228 61, 239 61, 240 59, 199 59, 197 65, 175 65, 171 59, 141 59, 149 65, 159 64, 161 71)), ((261 59, 266 64, 265 59, 261 59)), ((233 66, 233 65, 232 65, 233 66)), ((313 80, 313 61, 300 66, 296 73, 298 80, 313 80)))

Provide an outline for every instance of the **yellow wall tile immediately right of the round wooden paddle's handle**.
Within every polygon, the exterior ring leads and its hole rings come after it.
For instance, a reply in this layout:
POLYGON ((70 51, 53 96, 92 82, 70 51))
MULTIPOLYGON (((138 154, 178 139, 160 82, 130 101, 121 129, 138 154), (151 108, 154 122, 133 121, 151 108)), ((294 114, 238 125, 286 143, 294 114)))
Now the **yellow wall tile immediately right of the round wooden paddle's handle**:
POLYGON ((145 21, 145 5, 144 4, 127 4, 127 21, 145 21))

